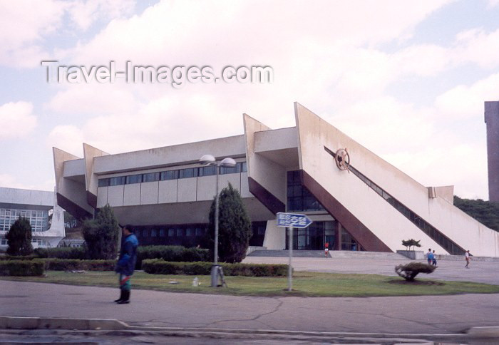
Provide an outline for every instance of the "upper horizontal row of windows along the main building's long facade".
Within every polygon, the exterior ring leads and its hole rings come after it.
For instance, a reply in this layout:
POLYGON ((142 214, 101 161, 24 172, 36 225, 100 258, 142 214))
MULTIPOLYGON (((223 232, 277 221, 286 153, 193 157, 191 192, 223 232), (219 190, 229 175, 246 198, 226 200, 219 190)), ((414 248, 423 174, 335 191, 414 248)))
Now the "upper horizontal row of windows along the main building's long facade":
MULTIPOLYGON (((99 187, 108 187, 114 185, 131 185, 133 183, 155 182, 164 180, 177 180, 179 178, 203 177, 215 175, 215 165, 208 165, 199 168, 185 168, 178 170, 167 170, 161 172, 150 172, 148 174, 136 174, 128 176, 107 177, 99 179, 99 187)), ((247 172, 246 162, 236 163, 233 168, 220 167, 220 175, 235 174, 237 172, 247 172)))

